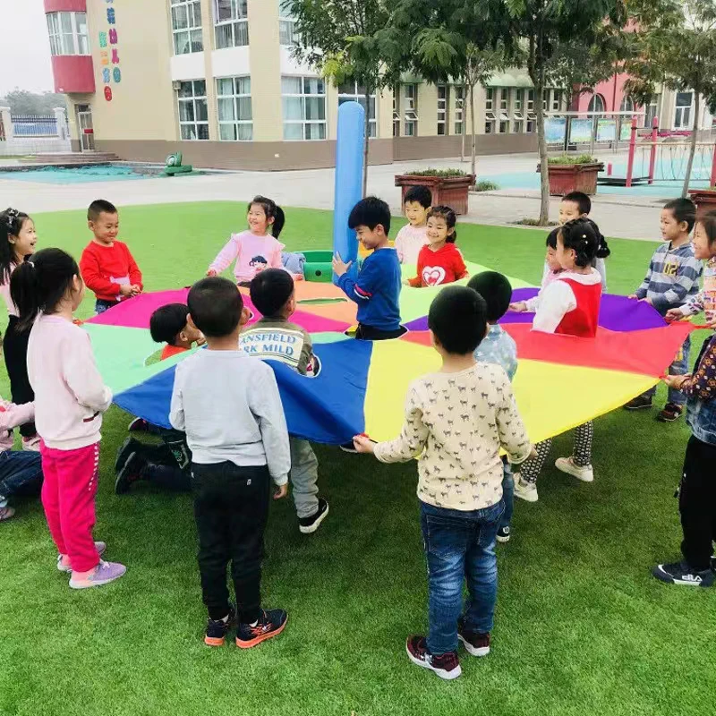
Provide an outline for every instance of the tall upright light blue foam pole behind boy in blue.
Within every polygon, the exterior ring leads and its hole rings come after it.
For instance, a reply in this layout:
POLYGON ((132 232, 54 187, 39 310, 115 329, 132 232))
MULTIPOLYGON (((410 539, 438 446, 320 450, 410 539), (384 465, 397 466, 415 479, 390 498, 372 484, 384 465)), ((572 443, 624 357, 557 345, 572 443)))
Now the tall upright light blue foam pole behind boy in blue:
MULTIPOLYGON (((351 209, 362 200, 363 138, 365 110, 358 102, 345 102, 338 107, 336 142, 336 192, 333 209, 333 252, 346 263, 353 261, 351 276, 358 272, 358 241, 348 228, 351 209)), ((333 283, 337 283, 336 274, 333 283)))

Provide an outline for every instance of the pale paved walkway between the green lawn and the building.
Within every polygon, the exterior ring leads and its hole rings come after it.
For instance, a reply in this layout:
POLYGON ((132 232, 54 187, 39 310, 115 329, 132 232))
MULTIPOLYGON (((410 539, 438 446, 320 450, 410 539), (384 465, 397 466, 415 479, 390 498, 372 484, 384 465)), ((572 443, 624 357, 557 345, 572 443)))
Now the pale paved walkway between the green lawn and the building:
MULTIPOLYGON (((606 160, 606 157, 605 157, 606 160)), ((401 213, 400 190, 394 175, 408 169, 426 167, 459 167, 460 160, 436 159, 422 162, 371 166, 369 192, 388 201, 396 214, 401 213)), ((465 162, 463 168, 469 169, 465 162)), ((535 158, 530 155, 501 155, 478 158, 478 175, 502 172, 534 171, 535 158)), ((81 184, 47 184, 0 180, 0 204, 29 212, 85 209, 100 197, 118 206, 159 204, 186 201, 249 200, 254 194, 265 194, 279 204, 311 209, 333 209, 334 170, 317 169, 296 172, 227 172, 204 176, 96 182, 81 184)), ((678 189, 674 188, 674 195, 678 189)), ((665 197, 666 198, 666 197, 665 197)), ((592 217, 603 234, 629 239, 653 241, 659 235, 660 202, 649 197, 625 198, 597 196, 592 217)), ((558 215, 558 200, 551 200, 550 217, 558 215)), ((461 221, 487 225, 510 225, 524 217, 538 217, 539 193, 530 190, 505 190, 473 194, 470 213, 461 221)))

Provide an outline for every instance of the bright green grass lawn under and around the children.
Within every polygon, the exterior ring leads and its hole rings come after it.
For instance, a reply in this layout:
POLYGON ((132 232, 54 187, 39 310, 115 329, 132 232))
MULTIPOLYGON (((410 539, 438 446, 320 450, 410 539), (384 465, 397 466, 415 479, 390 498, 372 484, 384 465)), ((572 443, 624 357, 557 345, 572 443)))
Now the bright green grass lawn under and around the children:
MULTIPOLYGON (((228 202, 129 207, 121 238, 149 290, 187 286, 244 217, 244 204, 228 202)), ((34 218, 41 246, 79 259, 90 236, 82 212, 34 218)), ((289 209, 282 239, 290 249, 328 248, 331 221, 329 212, 289 209)), ((539 282, 543 231, 459 233, 467 259, 539 282)), ((630 292, 653 245, 610 245, 609 290, 630 292)), ((81 315, 90 311, 88 299, 81 315)), ((688 438, 683 422, 653 417, 601 418, 596 482, 552 468, 538 503, 517 501, 514 537, 498 546, 493 652, 465 655, 464 676, 447 684, 405 656, 406 635, 427 624, 414 465, 319 447, 330 516, 301 535, 285 500, 268 526, 265 603, 287 609, 286 632, 249 652, 213 650, 201 641, 191 499, 141 487, 115 496, 112 464, 129 416, 113 407, 96 536, 129 570, 117 584, 72 592, 38 501, 16 505, 18 516, 0 525, 0 714, 702 713, 716 693, 716 590, 650 575, 678 556, 672 495, 688 438)), ((559 438, 554 456, 570 449, 569 436, 559 438)))

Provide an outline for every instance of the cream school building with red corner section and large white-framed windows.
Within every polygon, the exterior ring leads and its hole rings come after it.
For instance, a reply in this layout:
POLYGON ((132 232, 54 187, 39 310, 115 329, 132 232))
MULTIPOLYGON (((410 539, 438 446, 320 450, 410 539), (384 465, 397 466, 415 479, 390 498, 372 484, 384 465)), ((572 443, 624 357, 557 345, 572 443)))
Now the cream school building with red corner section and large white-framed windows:
MULTIPOLYGON (((181 151, 187 164, 227 169, 333 166, 338 106, 365 102, 355 83, 334 87, 294 60, 281 0, 44 4, 75 150, 152 162, 181 151)), ((564 111, 565 97, 550 89, 542 101, 564 111)), ((536 149, 534 101, 524 69, 477 88, 479 152, 536 149)), ((459 156, 471 122, 461 86, 409 75, 368 110, 374 164, 459 156)))

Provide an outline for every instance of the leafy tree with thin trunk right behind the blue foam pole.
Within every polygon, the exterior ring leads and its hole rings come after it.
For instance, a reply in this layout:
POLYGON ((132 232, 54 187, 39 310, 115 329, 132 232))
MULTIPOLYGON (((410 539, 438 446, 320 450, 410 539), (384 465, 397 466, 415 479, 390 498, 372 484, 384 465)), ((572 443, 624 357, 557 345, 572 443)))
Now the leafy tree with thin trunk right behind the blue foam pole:
POLYGON ((365 97, 363 195, 368 185, 371 95, 395 82, 385 62, 384 0, 283 0, 294 18, 294 57, 337 86, 355 81, 365 97))

